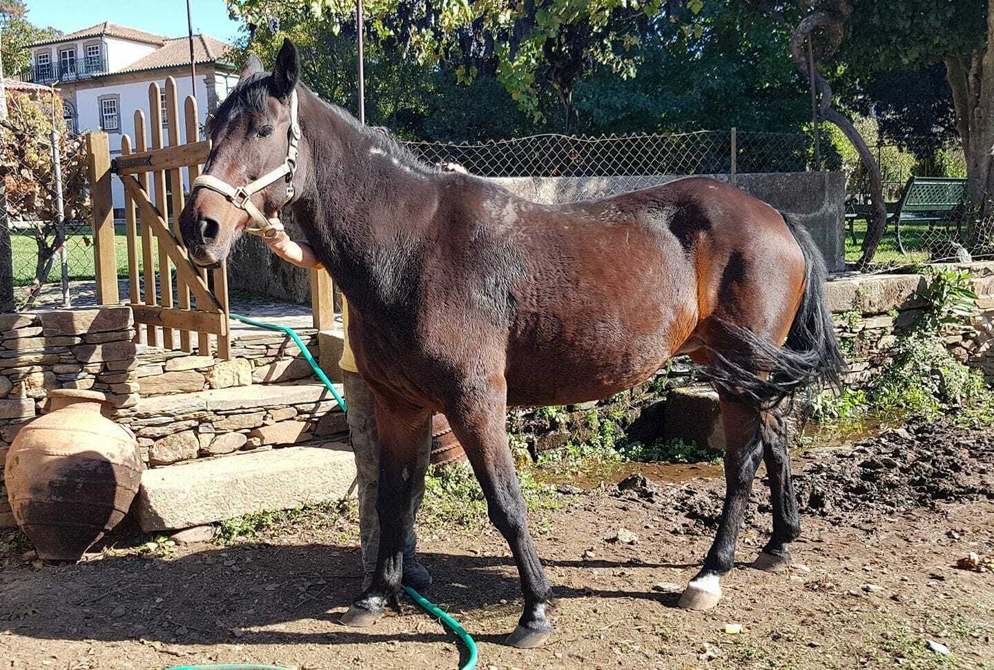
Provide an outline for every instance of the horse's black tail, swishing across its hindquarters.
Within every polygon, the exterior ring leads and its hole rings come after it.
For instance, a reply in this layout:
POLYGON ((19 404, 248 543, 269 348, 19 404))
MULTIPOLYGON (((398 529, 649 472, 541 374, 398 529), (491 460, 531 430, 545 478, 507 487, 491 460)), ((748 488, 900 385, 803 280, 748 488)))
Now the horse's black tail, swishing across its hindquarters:
MULTIPOLYGON (((781 213, 782 214, 782 213, 781 213)), ((742 343, 736 354, 712 349, 714 363, 705 376, 723 393, 754 404, 760 409, 776 407, 810 387, 839 388, 844 368, 835 339, 832 313, 825 301, 827 270, 821 251, 811 235, 796 221, 783 215, 787 228, 804 253, 804 296, 782 348, 748 328, 724 322, 731 337, 742 343), (762 379, 756 373, 767 373, 762 379)))

